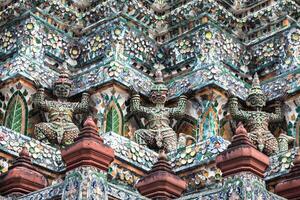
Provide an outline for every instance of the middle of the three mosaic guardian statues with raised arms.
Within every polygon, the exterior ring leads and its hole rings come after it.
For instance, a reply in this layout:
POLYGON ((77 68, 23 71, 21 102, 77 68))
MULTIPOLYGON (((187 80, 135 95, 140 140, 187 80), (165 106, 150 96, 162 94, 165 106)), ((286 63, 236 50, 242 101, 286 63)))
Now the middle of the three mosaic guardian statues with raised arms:
POLYGON ((135 131, 149 148, 170 152, 177 148, 177 135, 170 127, 170 117, 185 113, 186 96, 180 96, 177 107, 165 107, 168 88, 163 84, 162 73, 156 72, 155 84, 151 88, 150 101, 155 105, 145 107, 140 103, 140 96, 134 94, 131 99, 131 112, 140 113, 146 119, 145 129, 135 131))

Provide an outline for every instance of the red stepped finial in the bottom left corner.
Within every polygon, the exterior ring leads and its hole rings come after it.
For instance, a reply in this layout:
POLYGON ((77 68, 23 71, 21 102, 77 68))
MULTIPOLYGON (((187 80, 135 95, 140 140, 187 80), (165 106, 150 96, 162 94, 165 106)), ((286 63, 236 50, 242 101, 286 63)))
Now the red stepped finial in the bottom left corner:
POLYGON ((0 194, 5 196, 22 196, 46 186, 46 178, 32 165, 26 148, 22 149, 8 172, 0 177, 0 194))

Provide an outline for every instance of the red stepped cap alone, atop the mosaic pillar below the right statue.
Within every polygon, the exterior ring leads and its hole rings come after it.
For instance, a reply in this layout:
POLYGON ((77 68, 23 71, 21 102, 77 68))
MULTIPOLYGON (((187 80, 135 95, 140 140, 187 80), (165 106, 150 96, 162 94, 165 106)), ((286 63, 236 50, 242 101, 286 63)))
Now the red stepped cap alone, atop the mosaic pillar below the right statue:
POLYGON ((216 164, 225 177, 239 172, 252 172, 263 178, 269 166, 269 157, 255 148, 246 129, 240 123, 232 143, 226 151, 217 156, 216 164))

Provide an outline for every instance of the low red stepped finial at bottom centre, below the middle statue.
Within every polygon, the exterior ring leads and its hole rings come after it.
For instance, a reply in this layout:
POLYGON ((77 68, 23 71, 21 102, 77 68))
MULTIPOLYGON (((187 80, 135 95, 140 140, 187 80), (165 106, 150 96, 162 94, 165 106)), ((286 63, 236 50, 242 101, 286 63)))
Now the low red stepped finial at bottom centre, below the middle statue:
POLYGON ((161 200, 180 197, 186 187, 187 183, 171 170, 163 151, 149 174, 136 184, 136 188, 143 196, 161 200))

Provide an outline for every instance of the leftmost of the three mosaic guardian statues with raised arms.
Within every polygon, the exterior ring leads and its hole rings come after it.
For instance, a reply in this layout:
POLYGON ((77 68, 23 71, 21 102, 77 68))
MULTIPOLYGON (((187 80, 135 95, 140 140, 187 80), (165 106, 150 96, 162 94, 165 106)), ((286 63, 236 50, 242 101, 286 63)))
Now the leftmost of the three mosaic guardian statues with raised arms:
POLYGON ((68 102, 71 84, 67 74, 59 76, 53 88, 56 101, 45 100, 44 89, 38 89, 33 103, 37 109, 49 113, 49 122, 35 125, 36 139, 51 144, 68 145, 78 136, 79 129, 72 119, 75 114, 88 112, 89 94, 83 93, 81 102, 68 102))

